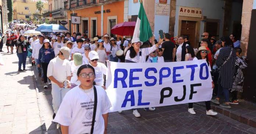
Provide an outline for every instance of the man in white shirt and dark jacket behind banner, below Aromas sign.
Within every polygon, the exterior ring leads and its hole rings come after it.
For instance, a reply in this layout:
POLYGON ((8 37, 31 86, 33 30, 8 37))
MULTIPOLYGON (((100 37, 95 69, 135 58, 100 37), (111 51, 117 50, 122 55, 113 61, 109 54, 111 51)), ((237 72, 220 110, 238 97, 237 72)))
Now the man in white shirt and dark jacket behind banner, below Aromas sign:
POLYGON ((184 41, 185 41, 184 36, 181 36, 178 38, 179 46, 176 51, 176 61, 185 61, 186 46, 188 46, 188 44, 184 44, 184 41), (183 58, 182 58, 182 55, 184 55, 183 58))

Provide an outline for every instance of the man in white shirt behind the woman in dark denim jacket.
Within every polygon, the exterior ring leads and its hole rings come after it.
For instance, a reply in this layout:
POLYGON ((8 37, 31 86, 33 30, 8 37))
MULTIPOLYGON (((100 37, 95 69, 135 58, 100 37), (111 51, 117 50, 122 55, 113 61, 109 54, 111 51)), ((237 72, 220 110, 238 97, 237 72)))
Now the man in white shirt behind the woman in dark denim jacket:
MULTIPOLYGON (((33 51, 32 51, 32 60, 35 60, 35 64, 37 65, 38 63, 38 55, 39 55, 39 50, 41 49, 41 47, 43 46, 43 41, 45 40, 45 37, 40 36, 39 37, 39 42, 36 42, 35 45, 33 46, 33 51)), ((43 80, 43 71, 42 67, 38 68, 36 66, 36 70, 38 71, 38 76, 41 77, 41 80, 43 80)), ((45 74, 46 75, 46 74, 45 74)))

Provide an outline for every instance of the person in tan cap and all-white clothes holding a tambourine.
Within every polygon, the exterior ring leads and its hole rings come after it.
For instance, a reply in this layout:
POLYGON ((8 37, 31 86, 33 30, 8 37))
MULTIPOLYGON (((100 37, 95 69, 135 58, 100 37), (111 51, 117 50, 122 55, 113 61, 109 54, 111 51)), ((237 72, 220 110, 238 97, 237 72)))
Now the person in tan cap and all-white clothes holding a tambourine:
POLYGON ((68 47, 61 47, 59 55, 50 61, 47 68, 47 77, 52 83, 51 95, 53 96, 53 119, 65 94, 70 90, 71 87, 71 66, 70 62, 67 60, 69 57, 70 49, 68 47), (68 80, 67 85, 64 85, 64 81, 66 80, 68 80))

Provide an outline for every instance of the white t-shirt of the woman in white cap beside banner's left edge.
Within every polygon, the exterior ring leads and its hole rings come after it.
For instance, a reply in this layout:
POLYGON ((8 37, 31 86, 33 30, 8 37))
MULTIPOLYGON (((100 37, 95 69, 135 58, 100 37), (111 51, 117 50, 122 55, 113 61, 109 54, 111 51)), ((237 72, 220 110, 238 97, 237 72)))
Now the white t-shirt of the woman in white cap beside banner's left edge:
MULTIPOLYGON (((91 64, 89 64, 91 65, 91 64)), ((91 65, 92 66, 92 65, 91 65)), ((104 79, 103 79, 103 74, 107 74, 107 66, 104 65, 103 63, 100 63, 98 62, 97 63, 97 66, 94 67, 92 66, 94 69, 95 69, 95 83, 96 85, 99 85, 99 86, 103 86, 104 85, 104 79)))

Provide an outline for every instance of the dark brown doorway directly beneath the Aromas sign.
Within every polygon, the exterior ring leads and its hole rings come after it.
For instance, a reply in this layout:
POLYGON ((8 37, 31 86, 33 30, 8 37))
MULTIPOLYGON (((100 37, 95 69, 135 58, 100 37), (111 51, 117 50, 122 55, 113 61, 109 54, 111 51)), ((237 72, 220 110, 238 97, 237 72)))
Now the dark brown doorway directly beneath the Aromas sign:
POLYGON ((194 21, 181 21, 181 35, 187 35, 191 46, 195 48, 195 35, 196 34, 196 22, 194 21))

